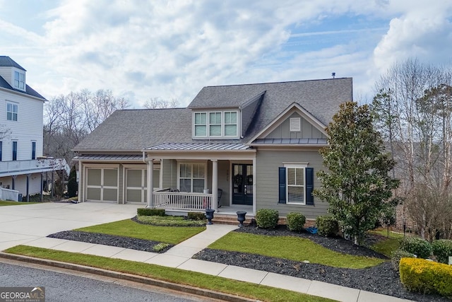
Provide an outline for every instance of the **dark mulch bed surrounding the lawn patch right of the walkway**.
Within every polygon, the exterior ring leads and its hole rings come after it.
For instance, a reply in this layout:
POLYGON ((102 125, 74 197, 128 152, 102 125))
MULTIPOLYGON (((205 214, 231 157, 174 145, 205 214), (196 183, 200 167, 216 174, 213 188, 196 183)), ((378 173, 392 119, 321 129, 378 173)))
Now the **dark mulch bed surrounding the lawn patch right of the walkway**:
MULTIPOLYGON (((374 250, 354 245, 351 241, 342 238, 325 238, 311 233, 293 233, 288 231, 285 226, 278 226, 274 230, 247 226, 237 229, 237 232, 256 233, 267 236, 298 236, 309 238, 319 243, 319 245, 323 245, 337 252, 387 259, 386 256, 374 252, 374 250)), ((194 255, 194 258, 223 263, 225 265, 237 265, 250 269, 258 269, 275 274, 285 274, 292 277, 323 281, 413 301, 450 301, 441 296, 415 294, 407 291, 403 287, 403 284, 400 283, 398 272, 393 270, 391 262, 384 262, 376 267, 366 269, 343 269, 243 252, 228 252, 213 249, 201 250, 201 252, 194 255)))

